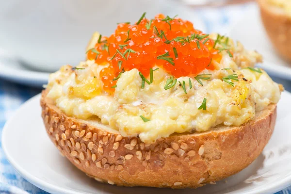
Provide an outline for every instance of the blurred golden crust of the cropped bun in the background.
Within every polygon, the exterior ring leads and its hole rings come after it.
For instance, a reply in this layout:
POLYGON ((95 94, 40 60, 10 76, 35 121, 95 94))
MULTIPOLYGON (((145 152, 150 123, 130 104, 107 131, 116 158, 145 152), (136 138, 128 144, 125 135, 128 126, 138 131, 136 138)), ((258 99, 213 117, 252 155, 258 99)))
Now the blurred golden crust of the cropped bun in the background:
POLYGON ((284 59, 291 61, 291 16, 284 10, 269 5, 267 0, 258 0, 260 15, 266 32, 284 59))

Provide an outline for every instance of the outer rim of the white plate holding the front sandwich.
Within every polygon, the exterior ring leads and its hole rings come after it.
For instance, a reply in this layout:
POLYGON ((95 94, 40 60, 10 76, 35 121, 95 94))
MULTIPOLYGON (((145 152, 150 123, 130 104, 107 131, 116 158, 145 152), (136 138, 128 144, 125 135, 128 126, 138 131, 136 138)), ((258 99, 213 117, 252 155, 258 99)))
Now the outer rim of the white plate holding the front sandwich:
MULTIPOLYGON (((291 93, 288 91, 284 91, 283 93, 285 93, 285 95, 288 95, 291 97, 291 93)), ((282 93, 282 94, 283 94, 282 93)), ((31 103, 32 101, 39 101, 41 96, 40 94, 35 95, 34 97, 30 98, 29 100, 27 100, 25 103, 23 103, 16 111, 15 113, 13 113, 13 115, 6 121, 3 129, 2 129, 2 137, 1 137, 1 142, 2 142, 2 149, 3 152, 6 156, 6 159, 9 161, 9 163, 13 166, 13 168, 20 174, 21 177, 25 178, 26 180, 28 180, 30 183, 32 183, 33 185, 35 185, 36 187, 49 192, 49 193, 58 193, 58 194, 80 194, 80 192, 76 192, 74 190, 69 190, 69 189, 64 189, 62 187, 59 186, 55 186, 51 183, 46 182, 43 179, 34 177, 33 175, 31 175, 29 172, 27 172, 25 169, 23 169, 20 165, 18 165, 19 162, 16 162, 12 156, 10 156, 7 143, 6 143, 6 136, 7 133, 9 131, 9 125, 10 123, 12 123, 15 120, 15 116, 17 113, 21 112, 23 109, 26 109, 28 104, 31 103)), ((76 169, 78 170, 78 169, 76 169)), ((288 186, 291 185, 291 175, 285 177, 284 179, 281 179, 280 182, 278 182, 277 184, 270 184, 269 186, 265 186, 263 188, 261 188, 259 191, 249 191, 249 194, 257 194, 259 193, 265 193, 265 194, 274 194, 278 191, 281 191, 285 188, 287 188, 288 186)), ((226 194, 235 194, 235 191, 231 191, 231 192, 227 192, 226 194)))

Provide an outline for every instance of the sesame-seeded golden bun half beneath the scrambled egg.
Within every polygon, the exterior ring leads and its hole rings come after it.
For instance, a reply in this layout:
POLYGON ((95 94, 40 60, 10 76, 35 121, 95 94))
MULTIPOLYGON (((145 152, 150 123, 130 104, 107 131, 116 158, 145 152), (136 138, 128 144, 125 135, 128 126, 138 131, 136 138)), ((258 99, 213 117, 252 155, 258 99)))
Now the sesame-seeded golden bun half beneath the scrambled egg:
POLYGON ((41 97, 49 138, 89 177, 119 186, 196 188, 231 176, 253 162, 275 127, 276 105, 240 127, 174 134, 146 145, 137 137, 97 129, 66 116, 41 97))

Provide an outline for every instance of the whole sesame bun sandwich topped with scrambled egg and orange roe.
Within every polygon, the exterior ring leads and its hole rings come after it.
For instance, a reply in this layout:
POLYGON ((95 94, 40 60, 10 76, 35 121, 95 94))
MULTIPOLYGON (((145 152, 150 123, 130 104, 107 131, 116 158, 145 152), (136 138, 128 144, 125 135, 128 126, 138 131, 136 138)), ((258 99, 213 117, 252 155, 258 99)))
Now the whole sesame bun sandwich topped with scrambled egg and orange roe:
POLYGON ((162 14, 95 33, 87 60, 42 92, 49 138, 89 177, 122 186, 196 188, 253 162, 283 90, 262 58, 162 14))

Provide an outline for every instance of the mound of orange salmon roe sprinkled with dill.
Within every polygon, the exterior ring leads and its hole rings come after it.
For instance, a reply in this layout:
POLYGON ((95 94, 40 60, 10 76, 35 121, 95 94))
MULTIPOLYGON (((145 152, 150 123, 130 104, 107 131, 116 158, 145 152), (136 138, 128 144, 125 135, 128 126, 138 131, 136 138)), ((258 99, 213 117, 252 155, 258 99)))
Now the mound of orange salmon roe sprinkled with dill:
POLYGON ((100 35, 95 48, 87 52, 89 60, 109 64, 100 71, 106 92, 113 93, 114 78, 133 68, 147 77, 150 68, 157 65, 178 78, 196 75, 205 68, 213 70, 213 61, 220 62, 214 41, 194 29, 190 21, 162 14, 149 20, 144 15, 133 25, 118 24, 109 37, 100 35))

